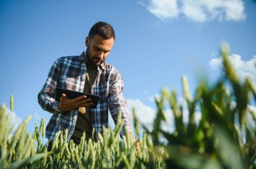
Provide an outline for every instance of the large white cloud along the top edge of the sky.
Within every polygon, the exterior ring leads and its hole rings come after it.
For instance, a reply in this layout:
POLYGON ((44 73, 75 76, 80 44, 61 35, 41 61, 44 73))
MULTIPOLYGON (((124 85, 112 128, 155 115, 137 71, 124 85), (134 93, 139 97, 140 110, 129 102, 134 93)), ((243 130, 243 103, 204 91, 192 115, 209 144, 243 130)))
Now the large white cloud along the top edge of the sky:
POLYGON ((150 0, 150 3, 138 3, 164 20, 174 19, 181 14, 200 23, 213 19, 242 21, 246 17, 242 0, 150 0))

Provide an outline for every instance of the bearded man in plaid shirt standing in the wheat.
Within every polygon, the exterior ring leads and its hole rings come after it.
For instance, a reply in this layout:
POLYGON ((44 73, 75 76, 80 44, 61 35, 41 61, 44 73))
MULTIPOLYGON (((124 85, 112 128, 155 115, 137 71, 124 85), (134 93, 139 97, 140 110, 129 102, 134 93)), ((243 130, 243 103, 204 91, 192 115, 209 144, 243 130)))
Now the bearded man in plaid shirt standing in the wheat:
MULTIPOLYGON (((59 130, 64 129, 68 129, 67 142, 73 139, 75 144, 79 144, 84 132, 88 140, 93 128, 97 133, 102 132, 103 125, 108 127, 108 109, 115 123, 121 110, 125 120, 121 135, 127 127, 133 142, 136 141, 132 136, 127 103, 123 96, 121 74, 105 62, 114 41, 113 27, 99 21, 86 37, 86 52, 80 56, 61 57, 51 67, 46 83, 38 94, 38 103, 42 109, 53 113, 46 126, 46 137, 50 142, 59 130), (68 99, 63 93, 60 102, 57 102, 54 99, 56 87, 99 95, 100 101, 96 109, 90 109, 92 103, 86 96, 68 99)), ((97 140, 98 135, 95 134, 94 138, 97 140)))

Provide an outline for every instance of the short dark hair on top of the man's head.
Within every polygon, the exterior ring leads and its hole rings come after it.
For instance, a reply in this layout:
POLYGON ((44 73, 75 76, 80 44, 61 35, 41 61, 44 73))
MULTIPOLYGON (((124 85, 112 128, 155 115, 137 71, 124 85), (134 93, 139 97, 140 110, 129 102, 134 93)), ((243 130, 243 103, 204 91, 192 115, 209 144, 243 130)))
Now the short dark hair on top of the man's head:
POLYGON ((104 39, 108 40, 114 38, 115 40, 115 31, 113 27, 104 21, 98 21, 92 26, 89 32, 89 38, 94 38, 97 34, 104 39))

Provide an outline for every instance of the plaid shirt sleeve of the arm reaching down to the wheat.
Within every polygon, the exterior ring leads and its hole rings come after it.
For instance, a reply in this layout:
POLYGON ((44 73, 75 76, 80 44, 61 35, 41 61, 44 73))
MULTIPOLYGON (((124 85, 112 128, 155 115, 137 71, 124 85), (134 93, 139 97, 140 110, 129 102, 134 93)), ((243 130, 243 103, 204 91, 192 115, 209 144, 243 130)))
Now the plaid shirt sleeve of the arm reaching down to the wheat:
POLYGON ((125 134, 125 127, 127 127, 127 130, 131 134, 133 133, 131 130, 127 103, 123 96, 123 89, 123 78, 121 77, 121 74, 117 72, 116 76, 113 78, 112 84, 110 84, 108 107, 115 124, 117 124, 119 111, 122 113, 122 119, 124 119, 125 123, 120 133, 121 137, 125 134))

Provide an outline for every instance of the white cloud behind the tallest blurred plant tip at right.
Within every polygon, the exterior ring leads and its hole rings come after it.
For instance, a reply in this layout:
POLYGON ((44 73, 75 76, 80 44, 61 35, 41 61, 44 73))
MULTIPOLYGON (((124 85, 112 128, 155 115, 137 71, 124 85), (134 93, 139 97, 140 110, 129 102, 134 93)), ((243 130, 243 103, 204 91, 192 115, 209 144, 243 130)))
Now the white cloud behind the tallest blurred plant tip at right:
MULTIPOLYGON (((244 61, 238 54, 232 54, 229 56, 229 60, 242 80, 245 80, 249 76, 251 80, 256 82, 256 56, 253 56, 249 61, 244 61)), ((210 66, 214 69, 222 68, 222 58, 219 57, 210 60, 210 66)))

